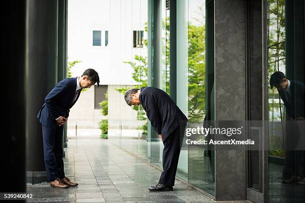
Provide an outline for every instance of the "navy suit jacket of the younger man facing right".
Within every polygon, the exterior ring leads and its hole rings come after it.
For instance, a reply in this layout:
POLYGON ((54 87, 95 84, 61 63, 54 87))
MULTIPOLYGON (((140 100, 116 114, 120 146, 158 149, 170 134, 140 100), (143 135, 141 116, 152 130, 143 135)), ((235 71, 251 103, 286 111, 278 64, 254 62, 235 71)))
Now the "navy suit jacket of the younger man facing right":
POLYGON ((44 99, 44 104, 37 114, 40 123, 50 128, 56 128, 58 126, 55 120, 56 118, 59 116, 69 117, 70 108, 78 100, 81 93, 81 91, 79 91, 76 100, 73 102, 76 91, 76 81, 77 78, 66 78, 60 81, 51 92, 49 92, 44 99))

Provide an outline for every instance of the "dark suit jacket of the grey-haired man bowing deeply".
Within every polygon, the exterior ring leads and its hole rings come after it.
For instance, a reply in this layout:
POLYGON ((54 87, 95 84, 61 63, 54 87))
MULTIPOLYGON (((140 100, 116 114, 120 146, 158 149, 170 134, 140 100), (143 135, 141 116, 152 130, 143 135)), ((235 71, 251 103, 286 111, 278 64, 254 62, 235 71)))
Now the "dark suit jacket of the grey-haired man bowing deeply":
POLYGON ((139 95, 140 102, 146 111, 152 127, 164 140, 188 119, 163 90, 153 87, 142 87, 139 95))

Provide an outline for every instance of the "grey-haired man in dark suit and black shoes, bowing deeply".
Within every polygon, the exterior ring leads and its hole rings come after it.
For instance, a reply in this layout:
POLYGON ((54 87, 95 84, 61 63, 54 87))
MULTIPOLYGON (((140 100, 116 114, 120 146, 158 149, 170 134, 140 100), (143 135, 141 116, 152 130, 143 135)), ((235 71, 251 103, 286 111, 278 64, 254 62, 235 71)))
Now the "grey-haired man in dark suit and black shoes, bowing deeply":
POLYGON ((125 93, 128 105, 142 104, 152 127, 162 140, 163 172, 150 191, 172 191, 188 119, 175 102, 162 90, 153 87, 130 89, 125 93))

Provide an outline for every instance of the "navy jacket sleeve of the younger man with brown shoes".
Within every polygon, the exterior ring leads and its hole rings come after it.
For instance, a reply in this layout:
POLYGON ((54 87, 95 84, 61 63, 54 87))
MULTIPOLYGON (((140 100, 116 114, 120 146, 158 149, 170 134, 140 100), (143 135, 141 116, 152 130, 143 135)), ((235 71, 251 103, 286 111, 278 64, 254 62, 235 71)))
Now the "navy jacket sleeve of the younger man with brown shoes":
POLYGON ((49 114, 53 120, 60 116, 58 110, 56 109, 56 101, 61 99, 61 96, 65 93, 67 87, 68 86, 64 81, 60 81, 44 99, 49 114))

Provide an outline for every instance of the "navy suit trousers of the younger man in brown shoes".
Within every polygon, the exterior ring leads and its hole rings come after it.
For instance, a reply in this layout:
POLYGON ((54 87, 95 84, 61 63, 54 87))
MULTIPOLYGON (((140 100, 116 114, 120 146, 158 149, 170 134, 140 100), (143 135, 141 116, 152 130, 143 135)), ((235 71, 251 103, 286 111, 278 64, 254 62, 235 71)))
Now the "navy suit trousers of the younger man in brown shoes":
POLYGON ((63 126, 50 128, 42 124, 43 155, 48 181, 63 179, 64 163, 62 160, 63 126))

